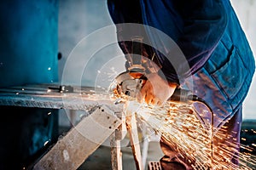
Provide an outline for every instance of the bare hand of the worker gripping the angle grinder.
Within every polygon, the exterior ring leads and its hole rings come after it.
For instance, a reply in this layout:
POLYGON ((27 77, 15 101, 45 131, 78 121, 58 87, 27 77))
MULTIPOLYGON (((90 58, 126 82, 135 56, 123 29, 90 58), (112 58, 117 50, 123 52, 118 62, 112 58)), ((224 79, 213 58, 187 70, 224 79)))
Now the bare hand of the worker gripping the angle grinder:
POLYGON ((162 105, 177 88, 177 84, 168 83, 157 73, 150 73, 147 78, 148 80, 141 89, 141 93, 137 94, 137 100, 141 103, 145 101, 148 104, 162 105))

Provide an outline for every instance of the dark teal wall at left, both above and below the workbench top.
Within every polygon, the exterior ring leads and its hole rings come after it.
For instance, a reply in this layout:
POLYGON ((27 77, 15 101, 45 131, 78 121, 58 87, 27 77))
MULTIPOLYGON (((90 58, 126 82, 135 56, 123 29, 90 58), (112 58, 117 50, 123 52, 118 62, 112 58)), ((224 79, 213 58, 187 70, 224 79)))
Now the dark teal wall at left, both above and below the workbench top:
MULTIPOLYGON (((0 2, 0 87, 58 81, 58 0, 0 2)), ((58 111, 0 106, 0 169, 24 169, 56 141, 58 111), (23 168, 24 167, 24 168, 23 168)))

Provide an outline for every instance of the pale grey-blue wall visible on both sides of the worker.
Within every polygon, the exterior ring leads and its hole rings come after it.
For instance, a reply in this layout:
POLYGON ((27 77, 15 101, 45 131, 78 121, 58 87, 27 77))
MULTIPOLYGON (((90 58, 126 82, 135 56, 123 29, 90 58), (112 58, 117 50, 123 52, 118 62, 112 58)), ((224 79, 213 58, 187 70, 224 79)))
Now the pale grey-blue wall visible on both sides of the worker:
MULTIPOLYGON (((256 0, 231 0, 231 3, 255 54, 256 0)), ((59 10, 59 50, 63 56, 59 61, 59 79, 63 83, 106 86, 102 79, 110 80, 125 70, 122 53, 113 43, 115 32, 106 1, 60 0, 59 10)), ((256 119, 255 83, 254 78, 244 103, 244 119, 256 119)))

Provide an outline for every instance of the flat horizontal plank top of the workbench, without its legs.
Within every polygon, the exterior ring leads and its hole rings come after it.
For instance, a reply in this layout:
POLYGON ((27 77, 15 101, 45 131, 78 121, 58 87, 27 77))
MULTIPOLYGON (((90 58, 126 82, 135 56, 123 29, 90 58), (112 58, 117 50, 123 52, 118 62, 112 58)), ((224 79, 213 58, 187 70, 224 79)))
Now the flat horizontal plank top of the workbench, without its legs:
POLYGON ((72 86, 73 92, 60 93, 60 86, 29 84, 0 88, 0 105, 84 111, 96 105, 113 106, 113 101, 102 89, 72 86))

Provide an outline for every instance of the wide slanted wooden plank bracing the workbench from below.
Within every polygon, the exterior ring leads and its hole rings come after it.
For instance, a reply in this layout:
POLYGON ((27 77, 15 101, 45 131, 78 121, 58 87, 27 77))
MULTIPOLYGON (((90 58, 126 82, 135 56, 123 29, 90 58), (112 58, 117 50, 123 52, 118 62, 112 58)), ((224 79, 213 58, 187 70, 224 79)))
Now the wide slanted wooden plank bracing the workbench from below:
POLYGON ((108 107, 97 107, 60 139, 33 169, 77 169, 120 124, 108 107))

